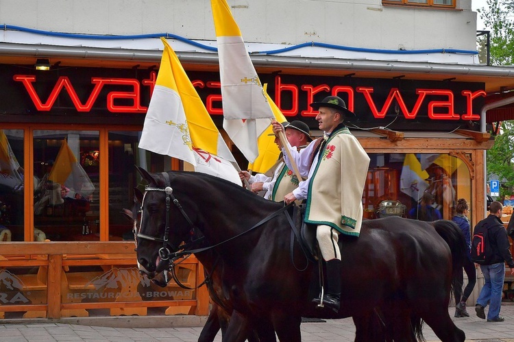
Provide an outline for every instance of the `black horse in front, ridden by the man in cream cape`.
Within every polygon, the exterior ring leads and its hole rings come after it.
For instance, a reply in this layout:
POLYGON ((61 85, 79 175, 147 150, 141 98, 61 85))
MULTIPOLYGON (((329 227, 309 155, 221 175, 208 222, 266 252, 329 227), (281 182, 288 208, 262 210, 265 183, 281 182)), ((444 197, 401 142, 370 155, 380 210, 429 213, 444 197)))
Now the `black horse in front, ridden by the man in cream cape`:
MULTIPOLYGON (((223 341, 243 341, 261 323, 271 324, 280 341, 301 341, 302 316, 353 317, 356 341, 371 341, 374 313, 387 339, 422 339, 424 321, 441 341, 465 340, 448 315, 465 256, 463 235, 450 221, 388 217, 364 221, 358 239, 341 236, 342 305, 334 313, 310 302, 315 264, 297 245, 292 253, 296 242, 283 204, 210 175, 138 171, 149 182, 136 237, 138 267, 153 278, 199 230, 215 252, 207 254, 217 258, 206 261, 219 267, 233 308, 223 341)), ((208 258, 199 249, 195 255, 202 263, 208 258)))

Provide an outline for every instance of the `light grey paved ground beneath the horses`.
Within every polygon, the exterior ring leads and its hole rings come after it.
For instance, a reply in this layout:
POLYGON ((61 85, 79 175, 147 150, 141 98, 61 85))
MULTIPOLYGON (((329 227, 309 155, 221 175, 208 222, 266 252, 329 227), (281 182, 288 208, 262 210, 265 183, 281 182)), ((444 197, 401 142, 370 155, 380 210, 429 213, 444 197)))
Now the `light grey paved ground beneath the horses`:
MULTIPOLYGON (((454 318, 455 308, 448 308, 458 328, 464 330, 466 341, 514 342, 514 302, 502 303, 501 323, 476 317, 473 307, 470 317, 454 318)), ((487 313, 487 308, 486 308, 487 313)), ((89 319, 3 319, 0 320, 0 342, 47 341, 197 341, 205 317, 95 317, 89 319), (165 328, 164 328, 165 327, 165 328)), ((354 341, 355 328, 351 318, 302 323, 302 341, 354 341)), ((428 326, 424 326, 426 341, 439 341, 428 326)), ((221 341, 219 333, 215 341, 221 341)))

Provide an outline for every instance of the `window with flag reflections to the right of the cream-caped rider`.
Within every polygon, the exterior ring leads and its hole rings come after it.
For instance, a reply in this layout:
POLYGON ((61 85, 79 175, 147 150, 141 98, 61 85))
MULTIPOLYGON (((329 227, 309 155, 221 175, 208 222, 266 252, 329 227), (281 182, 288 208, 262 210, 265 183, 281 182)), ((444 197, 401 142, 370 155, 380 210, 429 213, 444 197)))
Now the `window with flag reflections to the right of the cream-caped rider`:
POLYGON ((448 154, 369 156, 363 194, 364 216, 368 219, 389 215, 427 221, 439 215, 452 219, 456 199, 471 202, 471 177, 459 158, 448 154))

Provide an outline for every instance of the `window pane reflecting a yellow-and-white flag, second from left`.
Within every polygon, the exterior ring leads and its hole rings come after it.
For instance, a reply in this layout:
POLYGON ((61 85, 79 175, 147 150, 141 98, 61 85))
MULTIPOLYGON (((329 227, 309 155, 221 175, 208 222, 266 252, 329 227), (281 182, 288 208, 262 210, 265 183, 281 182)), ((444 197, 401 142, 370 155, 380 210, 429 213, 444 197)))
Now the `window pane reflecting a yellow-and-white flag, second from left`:
POLYGON ((38 239, 99 240, 100 157, 98 131, 34 131, 38 239))

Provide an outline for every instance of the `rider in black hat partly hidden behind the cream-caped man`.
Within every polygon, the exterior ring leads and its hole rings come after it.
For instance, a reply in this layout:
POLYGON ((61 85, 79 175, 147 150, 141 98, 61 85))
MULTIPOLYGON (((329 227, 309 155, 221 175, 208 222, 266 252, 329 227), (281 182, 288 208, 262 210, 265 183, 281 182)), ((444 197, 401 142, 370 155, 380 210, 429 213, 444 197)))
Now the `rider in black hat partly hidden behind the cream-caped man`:
MULTIPOLYGON (((291 146, 303 149, 311 141, 310 130, 306 123, 303 123, 302 121, 293 121, 291 123, 284 122, 282 125, 286 132, 287 141, 289 141, 291 146)), ((275 137, 275 143, 280 148, 280 140, 278 136, 275 137)), ((254 193, 264 190, 266 191, 264 195, 265 199, 283 201, 284 195, 291 193, 293 189, 297 188, 298 179, 286 166, 282 157, 277 160, 276 164, 274 164, 270 170, 273 170, 273 177, 270 177, 265 173, 250 175, 247 171, 241 171, 239 173, 239 177, 241 180, 244 180, 244 178, 248 180, 254 193)))

